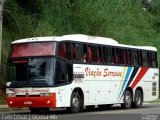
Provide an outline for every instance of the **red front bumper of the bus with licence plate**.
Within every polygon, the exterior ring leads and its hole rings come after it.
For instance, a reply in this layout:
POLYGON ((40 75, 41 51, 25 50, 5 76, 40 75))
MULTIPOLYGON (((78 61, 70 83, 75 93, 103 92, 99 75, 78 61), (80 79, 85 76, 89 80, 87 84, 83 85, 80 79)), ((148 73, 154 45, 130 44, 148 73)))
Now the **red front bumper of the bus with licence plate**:
POLYGON ((55 96, 45 97, 7 97, 7 103, 12 108, 22 107, 56 107, 55 96))

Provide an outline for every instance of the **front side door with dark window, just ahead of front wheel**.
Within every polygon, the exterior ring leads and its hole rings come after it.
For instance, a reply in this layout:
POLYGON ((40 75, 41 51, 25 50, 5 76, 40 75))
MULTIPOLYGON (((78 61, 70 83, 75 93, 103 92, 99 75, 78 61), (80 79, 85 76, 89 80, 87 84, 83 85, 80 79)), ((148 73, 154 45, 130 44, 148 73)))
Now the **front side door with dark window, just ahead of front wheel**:
POLYGON ((67 85, 72 81, 72 64, 64 60, 57 60, 56 71, 55 71, 55 82, 57 85, 56 98, 57 106, 63 107, 65 105, 65 100, 67 97, 67 85))

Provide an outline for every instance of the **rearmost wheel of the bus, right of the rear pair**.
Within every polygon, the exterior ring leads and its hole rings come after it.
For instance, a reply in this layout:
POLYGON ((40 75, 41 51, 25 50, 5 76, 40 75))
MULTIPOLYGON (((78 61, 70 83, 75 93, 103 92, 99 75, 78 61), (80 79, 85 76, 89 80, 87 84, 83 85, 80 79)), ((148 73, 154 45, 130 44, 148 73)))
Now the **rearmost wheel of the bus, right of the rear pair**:
POLYGON ((140 90, 136 90, 133 107, 140 108, 142 106, 142 102, 143 102, 142 92, 140 90))

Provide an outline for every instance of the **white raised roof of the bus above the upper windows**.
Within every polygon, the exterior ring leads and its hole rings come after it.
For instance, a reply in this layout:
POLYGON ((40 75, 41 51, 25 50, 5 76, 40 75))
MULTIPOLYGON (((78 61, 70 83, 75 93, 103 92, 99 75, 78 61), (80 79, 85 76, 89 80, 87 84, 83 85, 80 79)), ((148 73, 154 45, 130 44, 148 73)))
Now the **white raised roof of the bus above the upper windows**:
POLYGON ((12 44, 29 43, 29 42, 45 42, 45 41, 73 41, 73 42, 84 42, 84 43, 93 43, 93 44, 99 44, 99 45, 112 45, 112 46, 124 47, 124 48, 157 51, 155 47, 151 47, 151 46, 133 46, 133 45, 119 44, 116 40, 113 40, 112 38, 88 36, 83 34, 72 34, 72 35, 50 36, 50 37, 33 37, 33 38, 16 40, 12 42, 12 44))

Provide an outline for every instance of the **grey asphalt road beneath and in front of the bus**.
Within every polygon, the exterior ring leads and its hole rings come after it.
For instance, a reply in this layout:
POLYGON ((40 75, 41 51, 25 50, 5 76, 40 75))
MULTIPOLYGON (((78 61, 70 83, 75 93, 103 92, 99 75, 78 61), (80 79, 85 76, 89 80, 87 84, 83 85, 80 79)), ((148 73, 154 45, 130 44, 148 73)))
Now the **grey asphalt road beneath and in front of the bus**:
POLYGON ((160 120, 160 104, 144 104, 140 109, 125 110, 119 106, 109 110, 84 109, 80 113, 69 113, 64 109, 48 113, 31 114, 29 110, 5 111, 0 120, 160 120))

